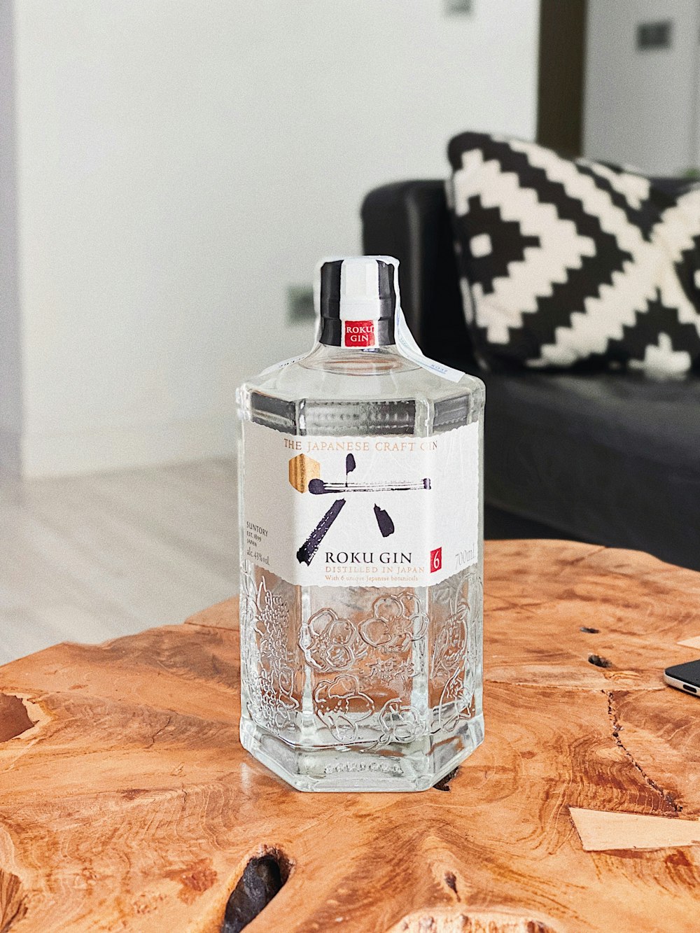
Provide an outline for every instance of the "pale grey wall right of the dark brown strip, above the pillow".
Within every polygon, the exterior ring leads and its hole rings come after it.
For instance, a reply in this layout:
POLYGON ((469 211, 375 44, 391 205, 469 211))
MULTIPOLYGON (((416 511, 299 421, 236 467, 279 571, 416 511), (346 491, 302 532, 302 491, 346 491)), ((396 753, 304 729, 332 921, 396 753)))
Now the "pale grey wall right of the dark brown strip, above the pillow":
POLYGON ((584 153, 651 174, 698 165, 697 0, 589 0, 584 153), (637 51, 637 23, 672 20, 670 49, 637 51))

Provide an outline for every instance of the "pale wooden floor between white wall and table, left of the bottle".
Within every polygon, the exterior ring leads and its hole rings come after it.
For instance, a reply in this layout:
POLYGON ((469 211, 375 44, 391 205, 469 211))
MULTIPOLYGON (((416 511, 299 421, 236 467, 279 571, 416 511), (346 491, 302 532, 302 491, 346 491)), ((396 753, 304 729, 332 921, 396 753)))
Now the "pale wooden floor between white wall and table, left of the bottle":
POLYGON ((0 664, 237 592, 231 460, 0 483, 0 664))

